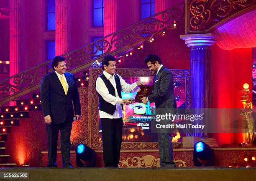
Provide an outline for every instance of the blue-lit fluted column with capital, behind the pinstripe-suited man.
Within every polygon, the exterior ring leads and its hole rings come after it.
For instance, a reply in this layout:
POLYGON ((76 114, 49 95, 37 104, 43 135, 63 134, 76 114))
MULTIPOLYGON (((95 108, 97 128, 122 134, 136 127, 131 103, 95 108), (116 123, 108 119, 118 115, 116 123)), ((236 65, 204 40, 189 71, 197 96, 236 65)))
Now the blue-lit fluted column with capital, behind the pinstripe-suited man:
MULTIPOLYGON (((190 74, 191 74, 191 108, 211 108, 211 61, 210 47, 215 44, 216 38, 210 34, 180 35, 190 48, 190 74)), ((207 118, 206 118, 207 119, 207 118)), ((205 124, 202 120, 202 123, 205 124)), ((211 134, 203 130, 194 136, 210 137, 211 134)))

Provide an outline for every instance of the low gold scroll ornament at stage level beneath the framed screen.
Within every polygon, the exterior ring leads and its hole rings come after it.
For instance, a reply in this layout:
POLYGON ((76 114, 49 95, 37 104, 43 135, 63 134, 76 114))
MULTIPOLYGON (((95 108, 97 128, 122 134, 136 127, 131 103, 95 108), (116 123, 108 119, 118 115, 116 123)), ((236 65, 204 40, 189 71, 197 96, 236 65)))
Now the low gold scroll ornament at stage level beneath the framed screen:
MULTIPOLYGON (((160 167, 160 160, 159 158, 152 155, 145 155, 142 158, 134 156, 132 159, 127 158, 126 160, 119 161, 120 164, 118 167, 128 167, 128 168, 151 168, 151 167, 160 167)), ((174 163, 178 167, 187 167, 186 161, 182 160, 174 160, 174 163)))

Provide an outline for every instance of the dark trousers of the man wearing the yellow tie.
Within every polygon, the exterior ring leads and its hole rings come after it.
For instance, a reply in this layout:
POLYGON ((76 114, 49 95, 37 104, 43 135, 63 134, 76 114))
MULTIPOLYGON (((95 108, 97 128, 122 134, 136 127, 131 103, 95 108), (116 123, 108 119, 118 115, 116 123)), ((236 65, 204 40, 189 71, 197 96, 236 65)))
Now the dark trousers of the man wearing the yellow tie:
POLYGON ((61 124, 46 124, 47 142, 48 142, 48 166, 57 166, 57 141, 59 131, 61 132, 61 155, 63 166, 70 164, 70 134, 73 121, 66 120, 61 124))

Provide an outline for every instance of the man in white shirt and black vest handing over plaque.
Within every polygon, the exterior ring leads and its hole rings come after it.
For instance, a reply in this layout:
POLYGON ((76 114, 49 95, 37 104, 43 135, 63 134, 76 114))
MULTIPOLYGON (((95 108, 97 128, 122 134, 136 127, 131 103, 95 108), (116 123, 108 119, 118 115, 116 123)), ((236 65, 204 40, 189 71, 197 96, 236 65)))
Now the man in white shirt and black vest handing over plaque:
POLYGON ((127 84, 115 74, 115 57, 107 55, 102 60, 103 73, 96 80, 99 94, 99 113, 102 125, 103 160, 105 167, 118 167, 123 128, 123 105, 133 99, 122 99, 124 93, 134 92, 142 82, 127 84))

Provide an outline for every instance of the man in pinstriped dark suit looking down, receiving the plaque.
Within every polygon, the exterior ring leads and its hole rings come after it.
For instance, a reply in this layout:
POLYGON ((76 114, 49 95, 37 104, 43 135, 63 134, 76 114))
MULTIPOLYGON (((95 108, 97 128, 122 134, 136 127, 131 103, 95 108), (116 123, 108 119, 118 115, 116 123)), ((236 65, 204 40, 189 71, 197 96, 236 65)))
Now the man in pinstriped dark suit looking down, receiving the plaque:
MULTIPOLYGON (((143 97, 142 102, 146 104, 149 102, 155 102, 156 113, 175 114, 175 108, 177 108, 174 87, 173 76, 169 69, 166 69, 159 56, 151 54, 145 59, 145 63, 148 65, 149 70, 153 71, 156 75, 153 81, 153 91, 148 97, 143 97)), ((159 133, 158 146, 160 156, 160 166, 166 166, 168 168, 176 166, 173 160, 172 139, 168 133, 159 133)))

